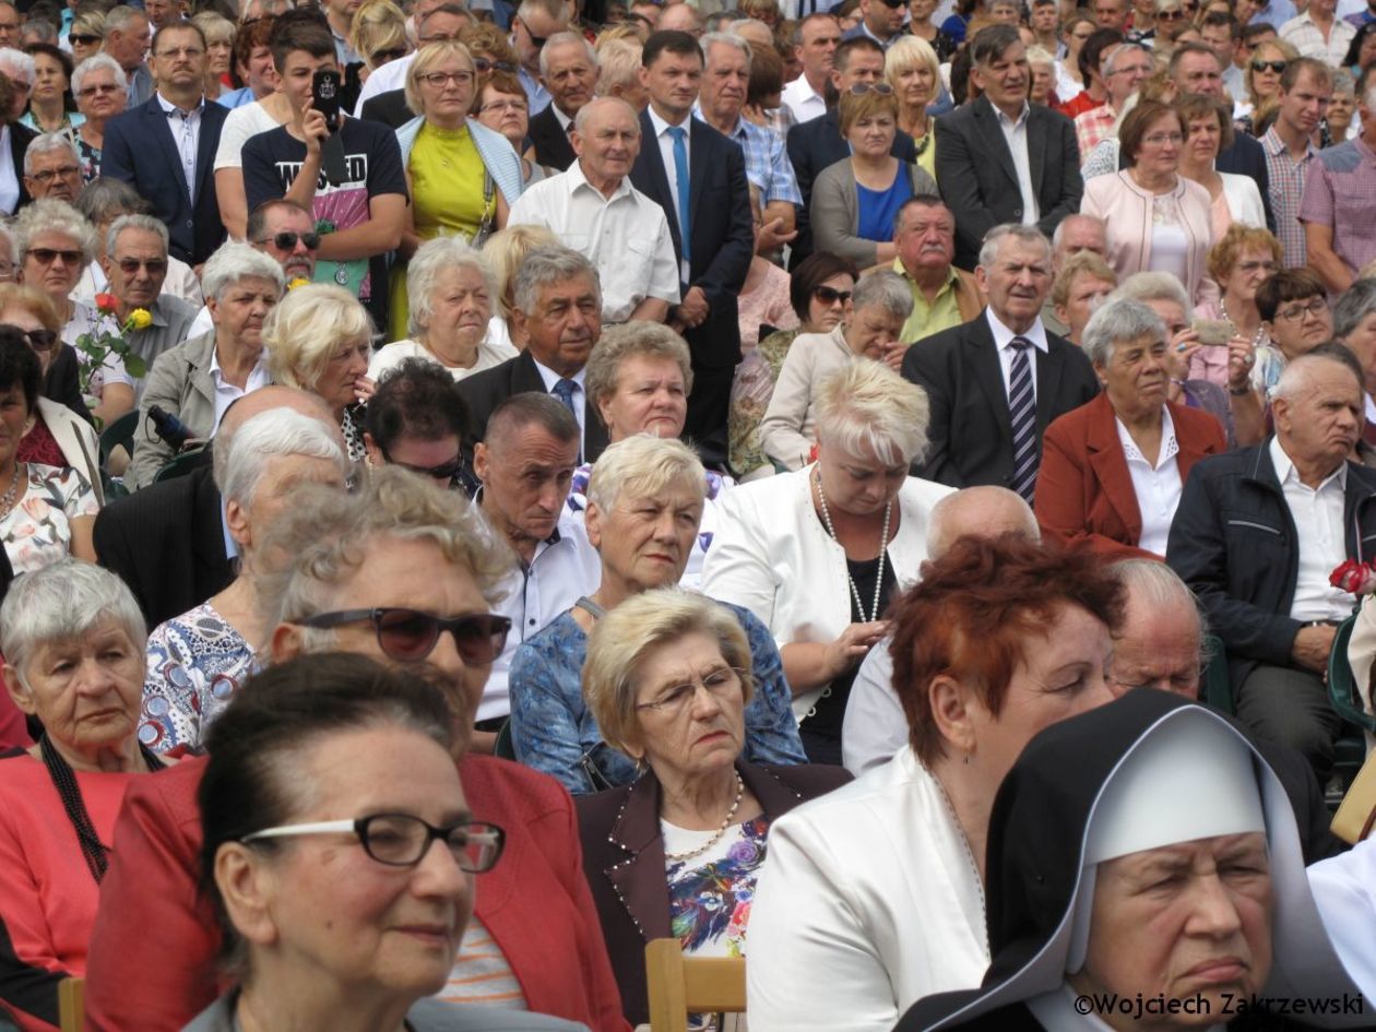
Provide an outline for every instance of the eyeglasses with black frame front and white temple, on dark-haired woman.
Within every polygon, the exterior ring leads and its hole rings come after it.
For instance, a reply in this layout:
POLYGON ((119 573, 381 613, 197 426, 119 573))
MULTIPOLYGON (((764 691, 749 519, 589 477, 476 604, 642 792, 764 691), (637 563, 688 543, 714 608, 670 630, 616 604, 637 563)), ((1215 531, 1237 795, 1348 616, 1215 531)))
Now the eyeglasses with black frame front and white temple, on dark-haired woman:
POLYGON ((410 813, 374 813, 356 820, 318 820, 307 824, 281 824, 245 835, 248 845, 266 838, 294 835, 358 835, 363 852, 388 867, 416 867, 439 841, 449 846, 458 870, 469 874, 491 871, 506 845, 506 832, 486 820, 465 820, 438 828, 410 813))

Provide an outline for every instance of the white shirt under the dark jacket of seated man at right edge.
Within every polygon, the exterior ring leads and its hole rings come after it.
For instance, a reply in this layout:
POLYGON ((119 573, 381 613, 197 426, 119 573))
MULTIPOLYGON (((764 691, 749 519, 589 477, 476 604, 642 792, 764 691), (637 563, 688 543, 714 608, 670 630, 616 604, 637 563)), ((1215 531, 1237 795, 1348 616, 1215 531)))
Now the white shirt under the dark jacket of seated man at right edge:
POLYGON ((1347 462, 1317 488, 1307 487, 1291 462, 1280 438, 1271 438, 1271 464, 1281 482, 1285 505, 1295 522, 1299 542, 1299 574, 1291 619, 1340 621, 1353 614, 1353 596, 1328 582, 1329 574, 1347 559, 1343 535, 1343 501, 1347 491, 1347 462))

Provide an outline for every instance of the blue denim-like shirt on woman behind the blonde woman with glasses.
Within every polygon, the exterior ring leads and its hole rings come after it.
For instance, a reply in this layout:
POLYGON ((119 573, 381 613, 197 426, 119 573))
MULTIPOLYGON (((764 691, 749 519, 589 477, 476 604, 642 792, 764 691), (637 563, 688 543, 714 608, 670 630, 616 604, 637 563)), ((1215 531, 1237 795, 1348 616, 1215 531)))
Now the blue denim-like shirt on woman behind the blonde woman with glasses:
MULTIPOLYGON (((746 705, 744 758, 761 765, 808 762, 773 636, 749 610, 731 603, 718 605, 736 614, 753 656, 755 694, 746 705)), ((509 681, 516 758, 553 775, 575 795, 630 784, 637 777, 634 761, 603 742, 583 700, 586 655, 588 634, 571 612, 560 614, 516 649, 509 681), (601 783, 594 782, 589 766, 601 783)))

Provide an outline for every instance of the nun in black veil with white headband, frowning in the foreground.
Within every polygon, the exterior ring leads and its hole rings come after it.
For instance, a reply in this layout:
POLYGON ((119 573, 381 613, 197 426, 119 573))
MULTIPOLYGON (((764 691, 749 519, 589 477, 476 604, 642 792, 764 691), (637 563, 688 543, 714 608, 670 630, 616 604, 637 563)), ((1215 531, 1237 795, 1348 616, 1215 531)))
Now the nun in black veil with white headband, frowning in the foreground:
POLYGON ((1376 1024, 1324 932, 1281 783, 1176 695, 1141 688, 1033 738, 995 799, 987 871, 982 987, 919 1000, 894 1032, 1376 1024))

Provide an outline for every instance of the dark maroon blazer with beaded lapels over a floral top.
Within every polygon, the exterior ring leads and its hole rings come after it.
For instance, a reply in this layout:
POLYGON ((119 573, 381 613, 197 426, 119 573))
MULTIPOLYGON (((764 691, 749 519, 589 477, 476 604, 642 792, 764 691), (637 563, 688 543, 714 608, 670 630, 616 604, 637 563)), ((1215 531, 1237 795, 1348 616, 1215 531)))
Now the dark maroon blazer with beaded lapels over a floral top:
MULTIPOLYGON (((850 780, 839 766, 753 766, 736 764, 740 779, 771 823, 799 802, 850 780)), ((621 1003, 632 1025, 649 1020, 645 944, 669 938, 669 885, 659 830, 660 787, 654 773, 634 784, 575 795, 583 872, 593 889, 621 1003)))

